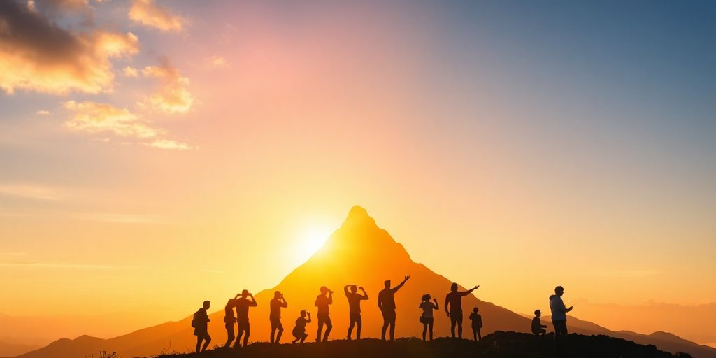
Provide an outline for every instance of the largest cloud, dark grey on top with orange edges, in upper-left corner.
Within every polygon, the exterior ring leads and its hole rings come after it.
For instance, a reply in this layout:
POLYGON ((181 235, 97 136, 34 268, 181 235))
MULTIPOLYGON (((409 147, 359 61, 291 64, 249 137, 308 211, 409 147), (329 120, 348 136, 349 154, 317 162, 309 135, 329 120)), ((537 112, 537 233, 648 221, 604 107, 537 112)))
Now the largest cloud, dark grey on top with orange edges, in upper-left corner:
POLYGON ((16 1, 0 1, 0 88, 66 94, 112 89, 111 59, 139 52, 139 40, 126 34, 74 33, 16 1))

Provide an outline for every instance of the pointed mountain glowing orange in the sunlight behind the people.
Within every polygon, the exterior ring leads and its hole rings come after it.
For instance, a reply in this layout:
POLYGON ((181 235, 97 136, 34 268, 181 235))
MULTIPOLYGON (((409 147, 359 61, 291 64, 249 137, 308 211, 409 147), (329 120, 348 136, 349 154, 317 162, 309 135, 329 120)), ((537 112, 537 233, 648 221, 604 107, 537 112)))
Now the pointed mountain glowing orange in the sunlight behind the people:
MULTIPOLYGON (((435 254, 439 255, 440 252, 435 254)), ((402 277, 410 275, 412 278, 395 294, 397 304, 397 337, 419 337, 422 334, 422 325, 418 322, 420 316, 420 296, 428 293, 437 298, 440 311, 436 314, 435 334, 444 337, 449 334, 449 320, 442 313, 442 302, 452 283, 440 274, 431 271, 422 263, 412 261, 405 248, 397 243, 387 231, 379 228, 374 219, 361 207, 351 209, 342 226, 332 233, 324 246, 314 253, 308 261, 297 267, 286 276, 281 283, 271 289, 256 294, 258 306, 250 311, 251 342, 267 341, 269 339, 269 301, 274 291, 284 292, 289 308, 282 311, 283 323, 286 331, 282 342, 289 342, 294 320, 299 316, 301 309, 315 312, 314 300, 319 294, 319 287, 327 286, 334 291, 334 303, 331 306, 331 317, 334 328, 332 339, 344 339, 348 326, 348 304, 343 294, 346 284, 364 286, 370 297, 363 301, 363 337, 379 337, 382 318, 377 309, 376 299, 383 287, 383 281, 390 279, 395 286, 402 281, 402 277)), ((241 287, 236 288, 237 291, 241 287)), ((460 287, 460 290, 463 290, 460 287)), ((475 291, 480 294, 480 290, 475 291)), ((226 298, 228 299, 228 297, 226 298)), ((223 326, 223 304, 225 300, 212 299, 213 309, 218 309, 210 315, 209 332, 214 344, 223 344, 226 340, 226 330, 223 326)), ((463 298, 463 308, 469 311, 473 306, 480 308, 483 316, 483 334, 495 331, 528 332, 531 319, 516 314, 508 309, 490 302, 481 301, 474 295, 463 298)), ((193 313, 197 307, 192 307, 193 313)), ((64 358, 82 357, 82 355, 97 354, 100 350, 119 352, 122 357, 135 357, 153 355, 161 352, 190 352, 195 345, 193 329, 190 327, 190 316, 181 321, 167 322, 158 326, 141 329, 124 336, 112 339, 97 339, 92 337, 79 337, 74 340, 61 339, 47 347, 34 352, 22 354, 22 358, 64 358), (80 354, 82 353, 82 354, 80 354)), ((545 321, 547 321, 545 319, 545 321)), ((716 349, 702 349, 692 342, 681 339, 666 339, 661 335, 655 337, 638 334, 611 332, 608 329, 589 322, 570 319, 573 332, 584 334, 609 334, 615 337, 633 337, 637 342, 656 344, 657 347, 670 352, 683 351, 692 353, 695 358, 716 357, 716 349)), ((470 321, 465 317, 463 323, 465 337, 470 335, 470 321)), ((306 331, 309 339, 314 339, 316 323, 309 324, 306 331)), ((675 336, 674 336, 675 337, 675 336)))

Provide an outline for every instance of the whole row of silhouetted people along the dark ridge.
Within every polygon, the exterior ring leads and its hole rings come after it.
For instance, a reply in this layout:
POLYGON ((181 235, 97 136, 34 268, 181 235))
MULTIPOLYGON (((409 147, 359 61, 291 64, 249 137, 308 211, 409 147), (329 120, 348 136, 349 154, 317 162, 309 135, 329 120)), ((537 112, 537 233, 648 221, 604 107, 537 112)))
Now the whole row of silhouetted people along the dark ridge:
MULTIPOLYGON (((385 334, 390 328, 390 341, 395 340, 395 293, 402 288, 403 285, 410 279, 410 276, 405 276, 405 279, 395 287, 391 288, 390 280, 384 282, 384 289, 378 293, 378 308, 383 316, 383 326, 381 329, 381 339, 385 340, 385 334)), ((445 314, 450 317, 450 335, 451 337, 463 337, 463 296, 471 294, 479 286, 475 286, 468 291, 458 291, 458 284, 453 283, 450 286, 450 293, 445 296, 445 314), (457 328, 457 335, 455 329, 457 328)), ((316 331, 316 342, 326 342, 329 334, 333 329, 333 324, 330 316, 329 306, 333 304, 333 291, 328 289, 326 286, 322 286, 321 294, 316 296, 314 305, 317 308, 316 317, 318 319, 318 329, 316 331), (325 331, 324 331, 325 328, 325 331)), ((343 292, 346 295, 349 306, 349 320, 347 339, 352 339, 353 329, 356 330, 356 339, 361 337, 361 329, 363 321, 361 317, 361 301, 368 299, 368 294, 362 286, 355 284, 349 284, 344 286, 343 292), (360 291, 360 293, 359 293, 360 291)), ((572 306, 566 308, 561 296, 564 293, 562 286, 555 288, 555 294, 549 297, 549 306, 552 311, 552 324, 555 331, 555 342, 558 343, 561 336, 567 334, 566 325, 566 313, 572 310, 572 306)), ((432 341, 432 326, 434 322, 433 311, 437 311, 440 307, 437 305, 437 299, 430 300, 430 294, 424 294, 421 298, 418 308, 422 309, 420 315, 420 323, 422 323, 422 339, 425 341, 430 339, 432 341), (426 337, 427 335, 427 337, 426 337)), ((211 337, 208 334, 208 322, 210 321, 206 310, 209 309, 211 303, 204 301, 202 308, 200 308, 193 316, 191 325, 194 327, 194 335, 197 338, 196 352, 203 352, 211 342, 211 337)), ((251 334, 251 325, 248 321, 248 309, 256 306, 256 299, 253 299, 253 295, 243 290, 241 294, 237 294, 233 299, 229 299, 225 306, 224 323, 226 324, 227 339, 224 347, 231 347, 231 343, 236 339, 236 343, 233 347, 241 347, 241 339, 243 337, 243 346, 248 344, 248 337, 251 334), (234 315, 236 310, 236 315, 234 315), (234 324, 236 324, 237 331, 234 332, 234 324)), ((274 298, 269 303, 270 314, 269 321, 271 322, 271 343, 278 344, 281 341, 281 335, 284 333, 284 326, 281 324, 281 309, 286 308, 289 305, 286 303, 284 294, 280 291, 274 292, 274 298)), ((482 339, 480 329, 483 326, 482 316, 478 313, 478 307, 474 307, 468 318, 470 319, 470 326, 473 329, 473 339, 478 341, 482 339)), ((543 325, 540 319, 542 312, 537 309, 535 316, 532 319, 532 333, 536 336, 544 336, 546 334, 547 326, 543 325)), ((308 334, 306 334, 306 324, 311 323, 311 313, 308 311, 301 311, 299 318, 296 319, 296 324, 292 330, 294 340, 291 343, 303 343, 308 334)))

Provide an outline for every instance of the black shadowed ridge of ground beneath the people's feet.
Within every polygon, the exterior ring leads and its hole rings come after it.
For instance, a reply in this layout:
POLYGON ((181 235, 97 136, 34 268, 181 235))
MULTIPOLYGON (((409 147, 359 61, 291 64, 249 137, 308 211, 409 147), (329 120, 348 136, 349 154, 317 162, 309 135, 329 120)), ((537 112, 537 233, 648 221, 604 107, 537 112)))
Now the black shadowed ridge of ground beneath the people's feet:
MULTIPOLYGON (((541 339, 531 334, 495 332, 480 342, 466 339, 435 339, 422 342, 419 339, 399 339, 395 343, 378 339, 361 341, 332 341, 322 344, 250 344, 240 349, 213 349, 202 354, 168 354, 160 357, 291 357, 291 358, 399 358, 399 357, 555 357, 553 336, 541 339)), ((636 344, 624 339, 607 336, 583 336, 571 334, 566 339, 561 357, 638 358, 638 357, 690 357, 687 354, 670 354, 656 347, 636 344)))

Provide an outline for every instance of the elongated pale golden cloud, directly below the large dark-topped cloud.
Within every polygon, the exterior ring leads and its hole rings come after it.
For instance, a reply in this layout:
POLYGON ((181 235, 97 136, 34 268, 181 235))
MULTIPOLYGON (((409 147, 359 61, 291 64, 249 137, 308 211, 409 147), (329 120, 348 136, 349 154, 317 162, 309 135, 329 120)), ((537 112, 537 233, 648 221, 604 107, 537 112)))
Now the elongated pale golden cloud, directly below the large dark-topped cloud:
POLYGON ((64 108, 72 112, 72 116, 64 122, 71 130, 89 133, 113 133, 120 137, 154 138, 160 130, 140 121, 127 108, 97 102, 64 102, 64 108))

